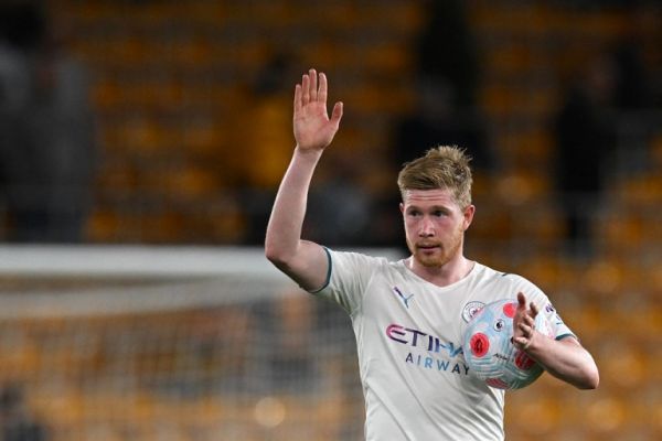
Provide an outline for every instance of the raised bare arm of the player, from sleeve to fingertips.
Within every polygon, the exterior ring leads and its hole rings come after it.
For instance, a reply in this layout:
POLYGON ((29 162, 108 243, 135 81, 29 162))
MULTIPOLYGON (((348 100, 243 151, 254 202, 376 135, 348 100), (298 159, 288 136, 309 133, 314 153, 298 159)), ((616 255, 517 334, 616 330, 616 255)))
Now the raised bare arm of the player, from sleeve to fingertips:
POLYGON ((280 183, 267 226, 265 254, 282 272, 307 290, 322 288, 328 271, 324 249, 301 239, 308 190, 322 152, 331 143, 342 117, 337 103, 327 114, 327 77, 314 69, 295 89, 293 128, 297 148, 280 183))

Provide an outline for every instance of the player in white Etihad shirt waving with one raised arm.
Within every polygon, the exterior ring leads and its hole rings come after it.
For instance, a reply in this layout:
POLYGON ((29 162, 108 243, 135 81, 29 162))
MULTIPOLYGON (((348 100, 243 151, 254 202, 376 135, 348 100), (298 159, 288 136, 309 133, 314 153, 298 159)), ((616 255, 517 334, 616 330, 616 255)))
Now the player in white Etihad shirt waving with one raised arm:
POLYGON ((314 69, 296 86, 297 147, 274 204, 266 255, 303 289, 334 300, 350 314, 365 397, 365 438, 503 439, 504 394, 472 377, 461 351, 476 308, 502 298, 519 302, 513 344, 555 377, 596 388, 592 357, 546 295, 522 277, 465 257, 465 232, 476 207, 469 160, 460 149, 433 149, 399 173, 409 258, 389 262, 301 239, 313 170, 342 118, 342 103, 328 117, 327 95, 327 77, 314 69), (538 311, 553 320, 556 340, 535 331, 538 311))

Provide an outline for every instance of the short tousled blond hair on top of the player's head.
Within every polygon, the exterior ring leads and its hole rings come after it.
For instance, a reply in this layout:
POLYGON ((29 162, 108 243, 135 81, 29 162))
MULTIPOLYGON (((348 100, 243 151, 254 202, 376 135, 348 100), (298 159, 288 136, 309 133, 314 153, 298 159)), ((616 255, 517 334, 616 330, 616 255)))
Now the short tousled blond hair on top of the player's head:
POLYGON ((403 201, 407 190, 452 191, 453 197, 462 208, 471 205, 471 158, 457 146, 439 146, 425 155, 407 162, 397 176, 403 201))

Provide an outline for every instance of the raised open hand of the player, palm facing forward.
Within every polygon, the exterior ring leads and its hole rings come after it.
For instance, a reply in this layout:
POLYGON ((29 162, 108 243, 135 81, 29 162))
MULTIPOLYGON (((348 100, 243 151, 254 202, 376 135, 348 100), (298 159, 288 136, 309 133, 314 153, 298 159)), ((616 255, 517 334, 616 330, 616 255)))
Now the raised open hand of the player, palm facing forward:
POLYGON ((295 88, 295 139, 301 150, 323 150, 331 143, 340 119, 342 103, 335 103, 331 118, 327 112, 327 75, 310 69, 295 88))

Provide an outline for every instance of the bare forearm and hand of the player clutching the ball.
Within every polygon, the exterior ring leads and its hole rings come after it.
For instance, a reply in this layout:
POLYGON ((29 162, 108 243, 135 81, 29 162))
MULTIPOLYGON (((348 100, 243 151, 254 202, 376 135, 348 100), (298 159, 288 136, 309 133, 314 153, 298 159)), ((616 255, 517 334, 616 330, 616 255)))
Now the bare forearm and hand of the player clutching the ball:
POLYGON ((538 310, 526 297, 517 293, 517 311, 513 319, 513 344, 535 359, 554 377, 579 389, 596 389, 600 383, 592 356, 574 336, 553 340, 535 330, 538 310))

